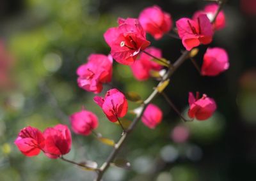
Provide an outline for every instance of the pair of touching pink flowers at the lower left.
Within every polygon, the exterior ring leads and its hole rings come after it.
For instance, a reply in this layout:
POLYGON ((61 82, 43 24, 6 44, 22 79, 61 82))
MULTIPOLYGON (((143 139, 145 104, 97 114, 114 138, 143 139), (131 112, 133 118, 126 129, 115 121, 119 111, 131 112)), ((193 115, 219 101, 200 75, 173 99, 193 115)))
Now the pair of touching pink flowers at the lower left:
POLYGON ((56 159, 70 151, 70 130, 63 124, 48 127, 42 133, 35 127, 24 127, 15 140, 15 145, 25 156, 37 156, 42 150, 45 156, 56 159))

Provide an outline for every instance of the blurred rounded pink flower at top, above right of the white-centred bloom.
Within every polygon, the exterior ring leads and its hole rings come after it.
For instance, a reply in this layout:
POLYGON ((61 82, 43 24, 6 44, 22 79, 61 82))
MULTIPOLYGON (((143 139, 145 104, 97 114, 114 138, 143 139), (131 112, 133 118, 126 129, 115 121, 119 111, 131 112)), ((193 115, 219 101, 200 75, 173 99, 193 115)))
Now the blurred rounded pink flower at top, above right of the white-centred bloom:
POLYGON ((169 13, 161 10, 159 6, 145 8, 140 13, 140 24, 147 33, 154 36, 156 40, 162 38, 172 28, 172 18, 169 13))

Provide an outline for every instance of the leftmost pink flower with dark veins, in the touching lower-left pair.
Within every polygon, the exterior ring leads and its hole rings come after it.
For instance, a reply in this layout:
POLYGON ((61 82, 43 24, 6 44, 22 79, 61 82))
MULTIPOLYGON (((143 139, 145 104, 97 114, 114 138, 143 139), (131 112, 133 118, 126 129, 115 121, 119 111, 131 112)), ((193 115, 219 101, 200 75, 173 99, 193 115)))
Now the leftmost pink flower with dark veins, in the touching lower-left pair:
POLYGON ((35 127, 24 127, 20 130, 15 140, 15 145, 25 156, 37 156, 40 150, 44 148, 45 139, 42 132, 35 127))

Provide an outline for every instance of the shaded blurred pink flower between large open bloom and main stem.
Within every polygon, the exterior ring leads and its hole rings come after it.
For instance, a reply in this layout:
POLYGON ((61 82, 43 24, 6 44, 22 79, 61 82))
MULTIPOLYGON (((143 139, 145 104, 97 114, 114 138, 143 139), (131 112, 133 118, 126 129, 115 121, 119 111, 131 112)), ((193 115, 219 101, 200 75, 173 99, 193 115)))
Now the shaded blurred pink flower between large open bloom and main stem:
MULTIPOLYGON (((162 52, 159 48, 149 47, 145 49, 145 52, 160 59, 162 57, 162 52)), ((153 62, 152 59, 149 55, 142 53, 140 58, 131 65, 132 73, 137 80, 147 80, 150 76, 150 70, 159 71, 163 68, 163 66, 153 62)))

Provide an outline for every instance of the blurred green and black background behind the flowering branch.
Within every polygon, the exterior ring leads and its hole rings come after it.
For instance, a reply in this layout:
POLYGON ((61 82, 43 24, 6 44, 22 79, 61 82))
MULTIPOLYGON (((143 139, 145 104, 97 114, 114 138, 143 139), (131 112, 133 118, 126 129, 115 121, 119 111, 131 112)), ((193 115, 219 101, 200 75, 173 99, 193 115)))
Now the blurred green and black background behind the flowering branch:
MULTIPOLYGON (((28 125, 44 130, 67 124, 67 115, 82 106, 99 115, 99 133, 118 140, 120 127, 109 122, 93 103, 93 93, 79 89, 76 69, 92 53, 109 54, 102 34, 116 26, 118 17, 138 17, 143 8, 157 4, 173 21, 191 17, 208 2, 200 0, 1 0, 0 1, 0 180, 92 180, 90 171, 40 154, 25 157, 13 144, 28 125)), ((228 1, 227 25, 216 32, 211 47, 223 47, 230 68, 216 77, 202 77, 186 61, 173 75, 166 93, 186 114, 188 92, 214 98, 218 110, 204 122, 182 124, 163 98, 154 99, 164 112, 163 122, 151 130, 138 124, 118 157, 131 169, 111 167, 104 180, 256 180, 256 1, 228 1)), ((175 61, 183 50, 168 36, 148 39, 175 61)), ((195 59, 202 64, 207 47, 195 59)), ((142 98, 155 80, 136 81, 131 69, 114 63, 113 84, 142 98)), ((102 95, 109 89, 104 87, 102 95)), ((129 108, 135 108, 129 102, 129 108)), ((132 115, 127 115, 132 119, 132 115)), ((93 136, 72 135, 68 159, 104 162, 111 147, 93 136)))

